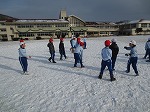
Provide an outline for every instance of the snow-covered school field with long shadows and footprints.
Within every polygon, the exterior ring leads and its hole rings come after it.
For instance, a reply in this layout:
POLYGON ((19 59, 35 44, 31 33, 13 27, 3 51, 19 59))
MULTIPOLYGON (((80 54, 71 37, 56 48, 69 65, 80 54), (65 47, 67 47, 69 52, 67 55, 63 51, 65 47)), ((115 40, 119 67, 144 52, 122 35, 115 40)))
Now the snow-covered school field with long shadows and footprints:
MULTIPOLYGON (((30 75, 22 75, 18 61, 19 42, 0 42, 0 112, 149 112, 150 63, 145 62, 144 46, 150 36, 88 38, 84 50, 85 68, 73 68, 69 39, 65 39, 68 59, 60 61, 58 44, 56 64, 48 62, 48 40, 26 41, 30 75), (106 39, 116 38, 120 52, 114 82, 106 70, 100 71, 100 51, 106 39), (131 68, 125 73, 128 53, 123 47, 137 41, 139 77, 131 68)), ((78 65, 79 66, 79 65, 78 65)))

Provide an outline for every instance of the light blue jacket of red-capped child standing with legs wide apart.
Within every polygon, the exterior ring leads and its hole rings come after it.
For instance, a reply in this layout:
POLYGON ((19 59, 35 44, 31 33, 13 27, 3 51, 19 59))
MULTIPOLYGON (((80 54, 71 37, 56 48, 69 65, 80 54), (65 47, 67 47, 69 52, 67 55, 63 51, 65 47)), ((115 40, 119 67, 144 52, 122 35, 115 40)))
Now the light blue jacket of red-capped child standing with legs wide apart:
POLYGON ((109 47, 104 47, 101 51, 102 60, 107 61, 111 60, 112 57, 112 51, 109 49, 109 47))

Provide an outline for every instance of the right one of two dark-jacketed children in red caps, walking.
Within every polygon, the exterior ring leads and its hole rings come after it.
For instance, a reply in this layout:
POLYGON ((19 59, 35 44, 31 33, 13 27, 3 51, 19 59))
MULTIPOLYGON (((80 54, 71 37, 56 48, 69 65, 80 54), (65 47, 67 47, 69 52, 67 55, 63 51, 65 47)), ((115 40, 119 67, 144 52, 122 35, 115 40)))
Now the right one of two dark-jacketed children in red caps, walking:
POLYGON ((65 59, 67 58, 63 41, 64 41, 64 38, 60 38, 60 43, 59 43, 60 60, 62 60, 63 55, 65 59))

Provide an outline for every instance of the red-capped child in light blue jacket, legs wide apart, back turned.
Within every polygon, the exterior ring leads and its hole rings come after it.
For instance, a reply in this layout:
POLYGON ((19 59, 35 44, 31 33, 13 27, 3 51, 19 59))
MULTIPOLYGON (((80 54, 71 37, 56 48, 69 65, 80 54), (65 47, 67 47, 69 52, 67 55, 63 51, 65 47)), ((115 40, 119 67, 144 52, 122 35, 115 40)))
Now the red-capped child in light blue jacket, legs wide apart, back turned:
POLYGON ((115 81, 116 79, 113 76, 112 62, 111 62, 112 51, 111 49, 109 49, 110 44, 111 44, 110 40, 106 40, 105 47, 101 51, 102 56, 101 71, 98 78, 102 79, 104 69, 107 66, 110 73, 110 81, 115 81))

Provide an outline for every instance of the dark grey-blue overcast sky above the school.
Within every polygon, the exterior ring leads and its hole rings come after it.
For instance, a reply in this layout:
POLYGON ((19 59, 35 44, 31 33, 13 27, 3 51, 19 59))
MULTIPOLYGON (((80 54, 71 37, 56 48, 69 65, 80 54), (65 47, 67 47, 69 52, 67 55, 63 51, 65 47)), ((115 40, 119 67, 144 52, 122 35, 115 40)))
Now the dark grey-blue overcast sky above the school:
POLYGON ((84 21, 150 20, 150 0, 0 0, 0 14, 58 19, 60 10, 84 21))

